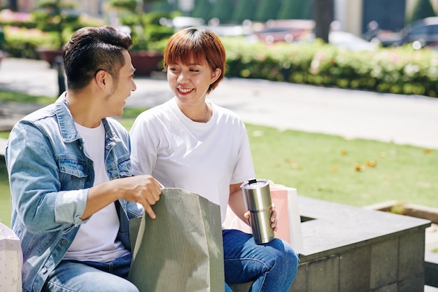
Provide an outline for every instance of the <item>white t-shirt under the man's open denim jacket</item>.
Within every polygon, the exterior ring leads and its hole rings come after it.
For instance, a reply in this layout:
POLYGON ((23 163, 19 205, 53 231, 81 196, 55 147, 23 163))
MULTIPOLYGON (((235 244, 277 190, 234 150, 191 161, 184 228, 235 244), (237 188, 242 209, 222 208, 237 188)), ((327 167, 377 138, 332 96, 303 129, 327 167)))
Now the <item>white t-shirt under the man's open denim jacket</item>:
MULTIPOLYGON (((105 168, 105 129, 99 127, 87 128, 75 123, 76 130, 85 144, 85 153, 94 163, 94 186, 108 181, 105 168)), ((108 262, 129 253, 122 242, 116 241, 120 221, 115 210, 115 204, 108 204, 97 211, 91 218, 80 225, 78 234, 66 255, 65 260, 91 260, 108 262)))

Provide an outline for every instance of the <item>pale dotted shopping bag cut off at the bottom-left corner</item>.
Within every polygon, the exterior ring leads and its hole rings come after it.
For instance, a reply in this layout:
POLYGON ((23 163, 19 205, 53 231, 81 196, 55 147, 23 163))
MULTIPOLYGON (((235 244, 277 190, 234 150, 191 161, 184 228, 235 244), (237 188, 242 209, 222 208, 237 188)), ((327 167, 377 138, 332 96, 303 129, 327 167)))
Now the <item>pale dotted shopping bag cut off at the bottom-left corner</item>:
POLYGON ((0 292, 21 292, 23 254, 20 239, 0 223, 0 292))

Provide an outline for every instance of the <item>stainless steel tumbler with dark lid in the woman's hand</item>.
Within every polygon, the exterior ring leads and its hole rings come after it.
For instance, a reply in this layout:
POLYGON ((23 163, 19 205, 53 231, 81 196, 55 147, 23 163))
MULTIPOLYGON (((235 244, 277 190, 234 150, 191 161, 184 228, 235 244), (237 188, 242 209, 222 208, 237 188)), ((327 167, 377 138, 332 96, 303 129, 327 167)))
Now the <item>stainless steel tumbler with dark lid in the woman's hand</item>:
POLYGON ((271 228, 271 190, 267 179, 250 179, 241 184, 243 200, 250 211, 250 225, 256 244, 265 244, 275 238, 271 228))

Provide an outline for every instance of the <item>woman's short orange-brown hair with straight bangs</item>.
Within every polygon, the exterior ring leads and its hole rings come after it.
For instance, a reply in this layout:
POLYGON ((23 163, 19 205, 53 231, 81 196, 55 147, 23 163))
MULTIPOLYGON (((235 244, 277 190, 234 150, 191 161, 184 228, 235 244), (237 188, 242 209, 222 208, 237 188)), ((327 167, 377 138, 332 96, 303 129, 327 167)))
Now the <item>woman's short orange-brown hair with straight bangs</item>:
POLYGON ((225 48, 209 29, 190 27, 176 32, 164 48, 163 66, 176 62, 187 64, 190 60, 202 63, 206 60, 213 71, 220 69, 219 78, 210 85, 207 93, 215 89, 225 76, 225 48))

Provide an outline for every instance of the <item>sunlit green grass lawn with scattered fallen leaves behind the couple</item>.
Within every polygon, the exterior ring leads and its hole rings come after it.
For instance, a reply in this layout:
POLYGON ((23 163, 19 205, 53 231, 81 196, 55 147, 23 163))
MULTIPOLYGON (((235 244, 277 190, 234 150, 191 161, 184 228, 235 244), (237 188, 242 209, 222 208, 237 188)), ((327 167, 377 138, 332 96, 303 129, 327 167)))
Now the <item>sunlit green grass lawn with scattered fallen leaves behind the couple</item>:
MULTIPOLYGON (((129 129, 143 110, 125 109, 120 122, 129 129)), ((259 179, 297 188, 299 195, 355 206, 397 200, 438 208, 438 150, 255 125, 247 130, 259 179)), ((0 221, 10 224, 3 161, 0 221)))

